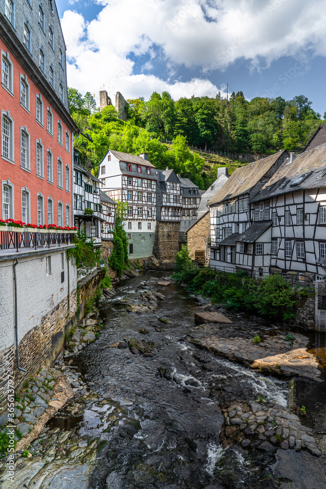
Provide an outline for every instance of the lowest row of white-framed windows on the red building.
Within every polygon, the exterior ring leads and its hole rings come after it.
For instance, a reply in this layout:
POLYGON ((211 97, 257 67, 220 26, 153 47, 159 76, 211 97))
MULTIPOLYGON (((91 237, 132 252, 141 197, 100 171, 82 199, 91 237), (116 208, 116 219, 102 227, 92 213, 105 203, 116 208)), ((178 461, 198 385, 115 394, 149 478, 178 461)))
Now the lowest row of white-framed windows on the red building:
MULTIPOLYGON (((22 190, 22 222, 29 223, 31 221, 31 198, 30 191, 25 187, 22 190)), ((61 200, 58 201, 58 225, 64 225, 64 205, 61 200)), ((53 215, 53 199, 51 197, 47 198, 46 201, 46 212, 47 212, 47 224, 54 223, 53 215)), ((36 199, 37 208, 37 224, 45 224, 44 219, 44 197, 40 193, 37 195, 36 199)), ((2 185, 2 219, 15 219, 14 213, 14 187, 9 183, 7 185, 2 185)), ((70 205, 65 206, 65 225, 70 226, 70 205)))

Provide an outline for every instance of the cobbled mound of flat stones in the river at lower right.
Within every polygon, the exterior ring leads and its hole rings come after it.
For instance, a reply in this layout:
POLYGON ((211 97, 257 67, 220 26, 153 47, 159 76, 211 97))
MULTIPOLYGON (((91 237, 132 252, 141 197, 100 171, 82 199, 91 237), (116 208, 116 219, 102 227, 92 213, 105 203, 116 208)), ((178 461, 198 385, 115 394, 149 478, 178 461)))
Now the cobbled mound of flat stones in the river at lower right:
POLYGON ((280 447, 283 450, 292 448, 322 455, 312 428, 303 426, 290 408, 280 404, 237 402, 224 410, 224 418, 221 439, 226 446, 238 443, 242 448, 259 448, 267 452, 275 452, 280 447))

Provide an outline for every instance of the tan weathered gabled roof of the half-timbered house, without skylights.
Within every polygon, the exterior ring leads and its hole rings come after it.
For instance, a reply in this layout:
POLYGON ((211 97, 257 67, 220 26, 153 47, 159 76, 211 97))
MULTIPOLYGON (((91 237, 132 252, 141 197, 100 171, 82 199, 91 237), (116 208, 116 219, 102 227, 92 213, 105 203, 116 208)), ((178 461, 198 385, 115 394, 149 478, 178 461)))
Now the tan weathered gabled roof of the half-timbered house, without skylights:
POLYGON ((213 204, 248 193, 284 153, 288 155, 287 150, 283 150, 238 168, 207 203, 213 204))

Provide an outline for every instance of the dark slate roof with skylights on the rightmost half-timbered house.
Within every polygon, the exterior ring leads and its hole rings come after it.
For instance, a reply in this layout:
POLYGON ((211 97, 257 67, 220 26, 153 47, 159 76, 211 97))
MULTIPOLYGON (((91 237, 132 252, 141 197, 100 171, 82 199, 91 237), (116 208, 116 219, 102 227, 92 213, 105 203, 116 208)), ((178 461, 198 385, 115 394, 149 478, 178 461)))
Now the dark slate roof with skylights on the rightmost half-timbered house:
POLYGON ((321 144, 300 153, 292 162, 289 158, 285 160, 250 202, 269 199, 296 190, 326 187, 326 175, 322 176, 324 170, 326 170, 326 144, 321 144), (304 174, 308 175, 299 184, 291 185, 304 174))

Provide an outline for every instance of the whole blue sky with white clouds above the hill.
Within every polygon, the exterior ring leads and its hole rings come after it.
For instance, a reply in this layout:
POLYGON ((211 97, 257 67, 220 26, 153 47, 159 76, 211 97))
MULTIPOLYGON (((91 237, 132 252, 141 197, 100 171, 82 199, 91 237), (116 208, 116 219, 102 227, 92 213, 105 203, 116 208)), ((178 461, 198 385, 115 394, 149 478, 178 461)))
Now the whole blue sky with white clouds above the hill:
POLYGON ((326 111, 326 0, 56 0, 68 86, 111 99, 242 90, 326 111))

